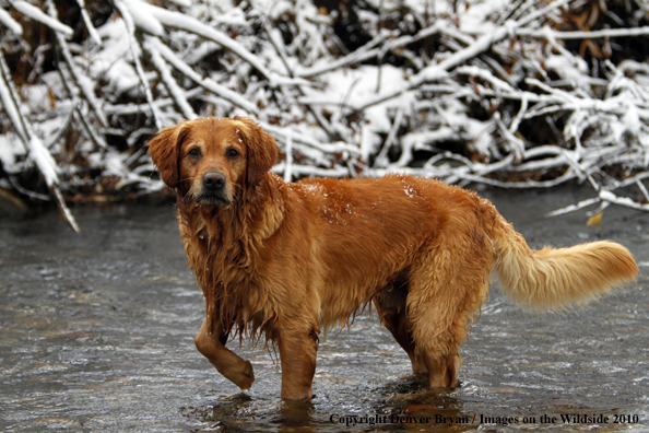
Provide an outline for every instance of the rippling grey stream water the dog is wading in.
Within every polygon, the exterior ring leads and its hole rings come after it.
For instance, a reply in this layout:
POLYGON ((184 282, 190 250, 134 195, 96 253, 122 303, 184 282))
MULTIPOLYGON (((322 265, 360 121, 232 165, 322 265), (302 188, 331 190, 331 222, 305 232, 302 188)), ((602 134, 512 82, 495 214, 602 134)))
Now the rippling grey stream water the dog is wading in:
POLYGON ((173 207, 76 208, 80 236, 56 212, 3 219, 0 429, 649 431, 649 215, 609 209, 599 226, 586 226, 583 213, 543 218, 585 195, 484 194, 532 247, 623 243, 641 264, 637 283, 586 309, 547 315, 521 312, 494 288, 462 347, 461 387, 451 391, 426 389, 365 313, 322 341, 315 398, 300 405, 279 398, 272 352, 243 344, 257 381, 240 393, 194 349, 204 303, 173 207), (568 424, 562 414, 590 419, 568 424))

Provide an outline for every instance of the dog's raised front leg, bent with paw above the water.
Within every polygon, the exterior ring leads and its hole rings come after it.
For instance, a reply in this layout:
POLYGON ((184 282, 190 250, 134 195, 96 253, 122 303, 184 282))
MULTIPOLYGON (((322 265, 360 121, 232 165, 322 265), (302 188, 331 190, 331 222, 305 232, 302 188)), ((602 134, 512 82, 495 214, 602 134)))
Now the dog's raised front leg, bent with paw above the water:
POLYGON ((255 382, 255 373, 250 361, 243 360, 225 347, 227 331, 219 320, 209 316, 196 336, 196 348, 216 367, 225 378, 234 382, 241 390, 250 389, 255 382))

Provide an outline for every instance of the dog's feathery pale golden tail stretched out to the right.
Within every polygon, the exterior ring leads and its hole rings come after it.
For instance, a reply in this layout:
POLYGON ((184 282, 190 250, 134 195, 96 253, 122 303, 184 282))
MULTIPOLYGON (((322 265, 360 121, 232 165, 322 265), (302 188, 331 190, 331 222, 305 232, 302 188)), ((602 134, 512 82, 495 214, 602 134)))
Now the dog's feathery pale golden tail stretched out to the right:
POLYGON ((598 299, 635 280, 638 266, 620 244, 599 241, 532 250, 496 211, 493 270, 504 292, 530 309, 563 309, 598 299))

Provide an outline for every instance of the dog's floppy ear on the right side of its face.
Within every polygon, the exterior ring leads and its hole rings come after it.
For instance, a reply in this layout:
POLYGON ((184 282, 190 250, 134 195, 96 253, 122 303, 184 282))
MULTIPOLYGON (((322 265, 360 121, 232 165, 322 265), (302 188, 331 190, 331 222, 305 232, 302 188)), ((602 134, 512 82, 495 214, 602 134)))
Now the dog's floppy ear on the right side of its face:
POLYGON ((246 182, 249 186, 255 186, 263 180, 275 164, 280 149, 273 136, 264 132, 255 120, 243 116, 236 116, 234 120, 245 126, 241 138, 247 147, 246 182))

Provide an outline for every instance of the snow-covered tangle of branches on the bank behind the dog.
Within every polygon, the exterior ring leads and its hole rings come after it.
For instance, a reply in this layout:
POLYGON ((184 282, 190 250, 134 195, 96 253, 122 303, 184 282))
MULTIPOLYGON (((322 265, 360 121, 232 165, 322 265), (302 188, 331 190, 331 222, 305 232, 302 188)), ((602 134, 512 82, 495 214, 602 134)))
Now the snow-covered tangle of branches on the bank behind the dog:
POLYGON ((649 210, 644 0, 0 0, 0 189, 163 188, 144 144, 248 115, 274 171, 411 173, 649 210), (632 187, 632 188, 629 188, 632 187))

